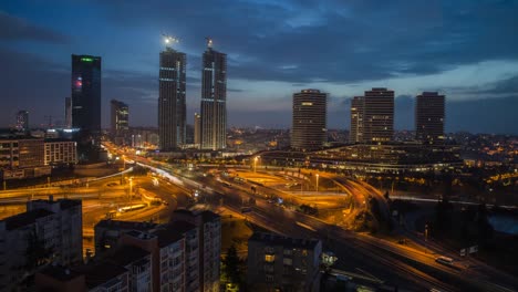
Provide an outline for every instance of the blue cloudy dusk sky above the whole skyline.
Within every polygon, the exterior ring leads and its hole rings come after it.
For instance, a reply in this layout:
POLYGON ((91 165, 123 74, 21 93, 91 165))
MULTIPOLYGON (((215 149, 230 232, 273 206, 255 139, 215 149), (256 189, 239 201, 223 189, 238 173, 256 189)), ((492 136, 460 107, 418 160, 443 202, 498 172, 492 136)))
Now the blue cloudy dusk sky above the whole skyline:
POLYGON ((64 119, 71 54, 102 56, 110 100, 131 126, 156 126, 162 34, 187 53, 187 123, 199 112, 205 38, 228 54, 229 126, 290 127, 302 88, 329 93, 328 127, 349 129, 350 100, 395 91, 395 128, 414 98, 446 95, 446 131, 518 134, 518 1, 17 0, 0 2, 0 126, 64 119))

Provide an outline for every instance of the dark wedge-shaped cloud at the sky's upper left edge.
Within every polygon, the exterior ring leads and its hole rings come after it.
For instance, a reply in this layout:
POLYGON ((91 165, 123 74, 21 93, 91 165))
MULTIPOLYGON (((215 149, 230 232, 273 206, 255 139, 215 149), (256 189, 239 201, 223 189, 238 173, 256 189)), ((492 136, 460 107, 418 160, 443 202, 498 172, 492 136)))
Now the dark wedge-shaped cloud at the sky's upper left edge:
POLYGON ((68 43, 70 38, 56 31, 0 11, 0 40, 29 40, 46 43, 68 43))

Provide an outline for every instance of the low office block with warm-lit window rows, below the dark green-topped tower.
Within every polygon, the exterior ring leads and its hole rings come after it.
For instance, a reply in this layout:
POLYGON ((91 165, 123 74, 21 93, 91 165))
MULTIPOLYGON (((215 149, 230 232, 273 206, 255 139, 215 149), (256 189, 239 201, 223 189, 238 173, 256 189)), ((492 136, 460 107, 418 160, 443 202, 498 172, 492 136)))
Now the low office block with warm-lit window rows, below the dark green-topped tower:
POLYGON ((68 139, 45 139, 45 165, 74 165, 77 163, 76 143, 68 139))

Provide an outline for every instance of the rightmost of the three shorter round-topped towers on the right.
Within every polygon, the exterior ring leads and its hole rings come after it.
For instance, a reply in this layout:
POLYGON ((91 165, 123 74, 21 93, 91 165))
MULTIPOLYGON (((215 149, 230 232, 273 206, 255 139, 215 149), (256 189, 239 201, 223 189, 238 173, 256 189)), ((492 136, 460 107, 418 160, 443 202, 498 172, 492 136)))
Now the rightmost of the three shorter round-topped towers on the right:
POLYGON ((415 104, 415 135, 424 144, 444 143, 445 96, 437 92, 423 92, 415 104))

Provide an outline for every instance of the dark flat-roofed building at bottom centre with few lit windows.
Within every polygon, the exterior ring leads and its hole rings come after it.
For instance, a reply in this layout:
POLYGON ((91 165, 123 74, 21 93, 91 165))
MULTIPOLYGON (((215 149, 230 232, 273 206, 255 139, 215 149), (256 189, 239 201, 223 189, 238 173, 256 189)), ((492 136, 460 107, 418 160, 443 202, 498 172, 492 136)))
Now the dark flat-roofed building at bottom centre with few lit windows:
POLYGON ((322 242, 255 232, 248 239, 250 291, 320 291, 322 242))

